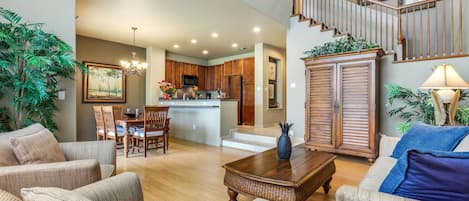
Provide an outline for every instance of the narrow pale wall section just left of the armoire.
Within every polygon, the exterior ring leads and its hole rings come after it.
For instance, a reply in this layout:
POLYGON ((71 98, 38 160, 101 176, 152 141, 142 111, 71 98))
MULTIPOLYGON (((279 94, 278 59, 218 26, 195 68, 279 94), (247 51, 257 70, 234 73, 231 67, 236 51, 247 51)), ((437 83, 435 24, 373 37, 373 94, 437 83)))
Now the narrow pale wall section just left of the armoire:
POLYGON ((333 41, 333 33, 320 32, 320 28, 309 27, 308 22, 298 23, 298 18, 290 19, 287 31, 287 121, 294 123, 295 137, 303 137, 305 132, 305 64, 301 58, 304 51, 324 42, 333 41))

